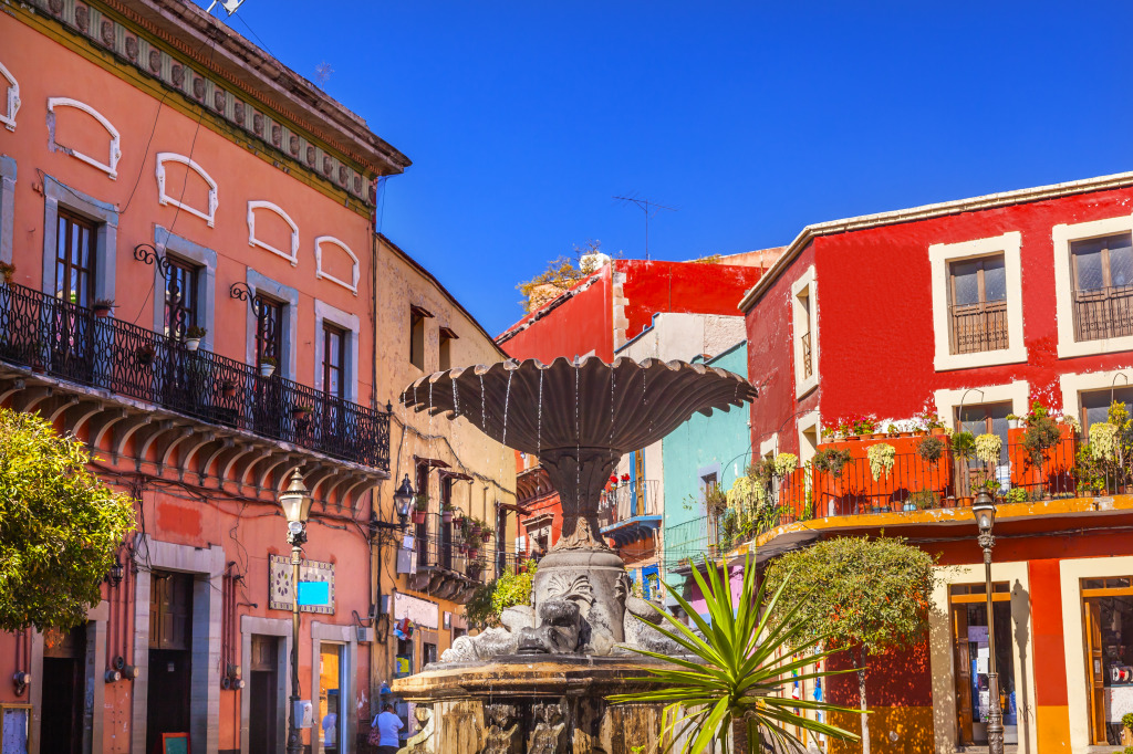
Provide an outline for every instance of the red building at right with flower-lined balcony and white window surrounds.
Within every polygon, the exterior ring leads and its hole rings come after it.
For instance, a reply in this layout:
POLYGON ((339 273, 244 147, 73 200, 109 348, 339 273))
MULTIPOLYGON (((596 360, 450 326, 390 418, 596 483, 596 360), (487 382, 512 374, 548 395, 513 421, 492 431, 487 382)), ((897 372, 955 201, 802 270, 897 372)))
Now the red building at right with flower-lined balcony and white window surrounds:
MULTIPOLYGON (((1133 497, 1127 464, 1094 481, 1075 453, 1111 402, 1133 404, 1131 204, 1123 173, 811 225, 741 302, 760 392, 752 445, 806 464, 836 439, 852 455, 837 478, 804 465, 778 483, 786 513, 759 537, 761 557, 884 529, 952 566, 926 644, 870 668, 875 751, 985 739, 982 555, 962 507, 979 483, 1007 496, 993 593, 1008 743, 1042 754, 1118 743, 1133 711, 1121 680, 1133 666, 1133 543, 1116 531, 1133 525, 1133 497), (1010 418, 1034 400, 1081 423, 1064 422, 1041 462, 1010 418), (998 457, 914 457, 926 412, 997 436, 998 457), (886 436, 829 437, 859 414, 886 436), (879 481, 866 462, 878 443, 895 449, 879 481)), ((827 699, 855 705, 857 686, 832 682, 827 699)))

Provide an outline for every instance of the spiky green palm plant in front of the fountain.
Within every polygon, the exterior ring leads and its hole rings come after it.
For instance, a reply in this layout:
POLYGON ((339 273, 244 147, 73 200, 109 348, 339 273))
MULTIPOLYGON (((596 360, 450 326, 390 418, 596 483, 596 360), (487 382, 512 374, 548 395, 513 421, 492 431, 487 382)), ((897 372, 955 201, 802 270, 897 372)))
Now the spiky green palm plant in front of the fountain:
POLYGON ((791 699, 786 693, 794 682, 853 671, 808 669, 832 652, 823 649, 825 637, 803 637, 804 626, 798 617, 798 608, 777 620, 772 617, 777 614, 775 606, 787 584, 783 583, 770 596, 766 584, 757 590, 756 567, 748 556, 743 564, 742 590, 738 599, 733 599, 731 584, 721 576, 724 563, 708 564, 707 577, 699 571, 692 568, 692 577, 705 596, 708 620, 680 596, 680 590, 665 584, 692 619, 699 635, 675 616, 654 606, 664 618, 657 631, 680 644, 687 654, 661 654, 634 648, 638 654, 668 667, 649 668, 649 677, 638 679, 656 684, 655 687, 616 694, 610 701, 614 704, 663 703, 663 752, 675 747, 679 754, 701 754, 715 744, 716 751, 727 754, 729 731, 735 721, 742 721, 750 743, 763 737, 778 752, 806 751, 787 726, 858 740, 859 737, 849 730, 800 713, 806 710, 857 713, 858 710, 791 699))

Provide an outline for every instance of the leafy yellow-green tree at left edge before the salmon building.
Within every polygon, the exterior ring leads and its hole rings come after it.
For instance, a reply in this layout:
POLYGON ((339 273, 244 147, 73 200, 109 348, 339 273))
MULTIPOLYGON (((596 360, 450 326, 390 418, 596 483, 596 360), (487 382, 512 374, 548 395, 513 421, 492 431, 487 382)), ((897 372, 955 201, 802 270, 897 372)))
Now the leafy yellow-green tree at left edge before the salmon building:
POLYGON ((90 460, 37 414, 0 409, 0 631, 66 631, 100 600, 134 503, 90 460))

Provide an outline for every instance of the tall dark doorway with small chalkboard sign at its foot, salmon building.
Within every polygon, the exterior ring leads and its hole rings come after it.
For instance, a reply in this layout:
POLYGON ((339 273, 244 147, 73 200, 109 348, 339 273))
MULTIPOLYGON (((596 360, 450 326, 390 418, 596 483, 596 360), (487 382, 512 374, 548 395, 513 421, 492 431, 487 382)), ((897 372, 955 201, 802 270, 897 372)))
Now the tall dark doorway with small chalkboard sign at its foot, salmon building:
POLYGON ((150 692, 146 752, 163 732, 189 732, 193 678, 193 574, 154 571, 150 579, 150 692))

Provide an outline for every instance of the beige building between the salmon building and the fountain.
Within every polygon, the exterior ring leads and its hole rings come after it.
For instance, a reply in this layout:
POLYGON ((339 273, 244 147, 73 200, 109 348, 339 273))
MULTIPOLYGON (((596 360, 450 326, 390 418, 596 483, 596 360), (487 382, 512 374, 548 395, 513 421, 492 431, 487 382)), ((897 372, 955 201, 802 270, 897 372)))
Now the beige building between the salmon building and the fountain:
POLYGON ((513 565, 514 554, 505 549, 517 533, 516 516, 509 515, 516 507, 516 455, 466 419, 400 406, 401 392, 425 375, 506 357, 427 269, 382 234, 374 275, 374 385, 393 403, 391 480, 380 490, 378 515, 398 521, 393 492, 406 477, 427 499, 404 535, 381 538, 383 546, 374 550, 376 603, 387 616, 377 620, 373 644, 381 688, 420 670, 466 633, 463 606, 476 586, 513 565), (468 526, 461 519, 476 523, 468 526), (479 533, 469 531, 477 526, 479 533))

